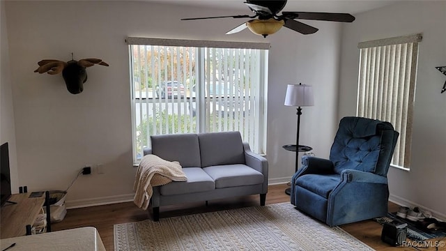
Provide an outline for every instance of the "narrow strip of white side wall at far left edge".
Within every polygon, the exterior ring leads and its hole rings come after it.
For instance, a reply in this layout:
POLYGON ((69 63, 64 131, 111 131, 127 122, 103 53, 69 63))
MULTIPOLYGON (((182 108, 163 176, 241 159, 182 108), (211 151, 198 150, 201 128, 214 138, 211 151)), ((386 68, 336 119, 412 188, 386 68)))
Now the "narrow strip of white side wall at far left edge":
POLYGON ((8 55, 8 32, 4 1, 0 1, 0 144, 8 142, 11 187, 17 193, 17 155, 15 151, 15 126, 13 110, 13 91, 11 89, 10 65, 8 55))

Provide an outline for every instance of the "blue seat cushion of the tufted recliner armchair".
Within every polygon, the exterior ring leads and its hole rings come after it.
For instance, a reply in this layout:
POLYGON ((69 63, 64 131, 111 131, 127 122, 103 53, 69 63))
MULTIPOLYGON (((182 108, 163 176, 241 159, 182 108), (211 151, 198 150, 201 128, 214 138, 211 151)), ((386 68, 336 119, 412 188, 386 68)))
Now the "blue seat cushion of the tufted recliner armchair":
POLYGON ((305 174, 300 176, 295 184, 328 199, 328 195, 340 181, 341 176, 338 174, 305 174))

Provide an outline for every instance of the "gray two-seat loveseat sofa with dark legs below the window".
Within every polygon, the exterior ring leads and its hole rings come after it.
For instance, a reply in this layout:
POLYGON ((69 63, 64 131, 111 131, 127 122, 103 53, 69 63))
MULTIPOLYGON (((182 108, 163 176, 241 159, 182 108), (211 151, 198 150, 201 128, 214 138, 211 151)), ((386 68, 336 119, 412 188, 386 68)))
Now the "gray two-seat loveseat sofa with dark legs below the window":
POLYGON ((260 195, 265 205, 268 192, 268 161, 253 153, 240 132, 209 132, 151 136, 151 149, 164 160, 178 161, 187 181, 173 181, 153 188, 153 220, 160 206, 207 201, 243 195, 260 195))

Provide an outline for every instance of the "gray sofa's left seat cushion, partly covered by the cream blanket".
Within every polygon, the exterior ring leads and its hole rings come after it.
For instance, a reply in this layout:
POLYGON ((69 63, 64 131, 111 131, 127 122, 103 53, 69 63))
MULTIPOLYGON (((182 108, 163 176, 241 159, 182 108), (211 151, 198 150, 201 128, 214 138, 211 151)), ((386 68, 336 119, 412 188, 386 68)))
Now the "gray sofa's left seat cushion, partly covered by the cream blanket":
POLYGON ((171 182, 162 185, 161 195, 183 195, 192 192, 205 192, 215 189, 215 182, 201 167, 184 167, 187 181, 171 182))

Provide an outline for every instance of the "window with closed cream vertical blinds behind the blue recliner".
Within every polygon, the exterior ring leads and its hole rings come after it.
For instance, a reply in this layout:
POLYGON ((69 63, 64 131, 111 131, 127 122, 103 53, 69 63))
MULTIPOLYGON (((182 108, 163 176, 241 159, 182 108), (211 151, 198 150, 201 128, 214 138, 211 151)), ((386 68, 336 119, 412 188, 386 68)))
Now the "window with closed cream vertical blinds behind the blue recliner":
POLYGON ((357 116, 389 121, 400 135, 391 165, 410 169, 413 103, 421 34, 359 43, 357 116))

